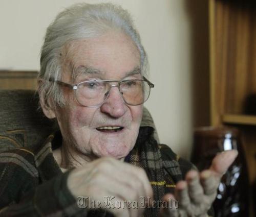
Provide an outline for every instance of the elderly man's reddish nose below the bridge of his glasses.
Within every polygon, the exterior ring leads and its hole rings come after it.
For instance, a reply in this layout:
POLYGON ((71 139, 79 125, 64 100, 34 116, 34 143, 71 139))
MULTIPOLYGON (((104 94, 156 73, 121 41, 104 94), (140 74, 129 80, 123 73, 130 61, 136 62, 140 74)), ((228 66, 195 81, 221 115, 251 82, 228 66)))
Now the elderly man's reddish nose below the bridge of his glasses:
POLYGON ((126 112, 127 106, 117 86, 110 89, 108 99, 101 105, 100 110, 115 118, 121 117, 126 112))

